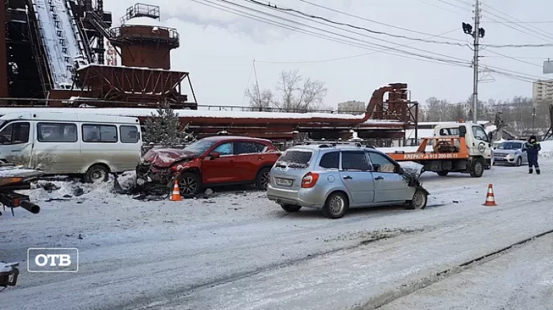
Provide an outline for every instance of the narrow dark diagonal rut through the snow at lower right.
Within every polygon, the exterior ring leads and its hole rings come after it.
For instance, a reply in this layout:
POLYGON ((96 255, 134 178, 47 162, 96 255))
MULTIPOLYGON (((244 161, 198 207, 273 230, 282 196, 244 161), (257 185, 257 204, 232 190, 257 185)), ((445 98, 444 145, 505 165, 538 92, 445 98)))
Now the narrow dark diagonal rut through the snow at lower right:
POLYGON ((485 264, 486 262, 489 262, 491 260, 495 260, 496 258, 500 258, 502 255, 505 255, 514 249, 517 249, 520 246, 524 246, 528 242, 532 242, 533 240, 536 240, 538 238, 542 238, 545 235, 553 234, 553 229, 549 231, 545 231, 543 233, 538 233, 537 235, 533 235, 532 237, 526 238, 524 240, 515 242, 513 244, 510 244, 509 246, 505 246, 502 249, 498 249, 496 251, 487 253, 485 255, 482 255, 478 258, 474 258, 472 260, 469 260, 467 262, 463 262, 462 264, 458 264, 455 267, 451 267, 449 269, 446 269, 444 271, 440 271, 438 273, 434 273, 433 275, 429 275, 426 278, 422 278, 420 280, 409 282, 406 284, 402 284, 401 287, 396 288, 393 291, 388 291, 386 293, 383 293, 379 296, 376 296, 374 298, 371 298, 366 302, 366 304, 362 305, 355 305, 353 307, 348 307, 344 310, 375 310, 380 309, 381 307, 386 306, 386 304, 389 304, 390 302, 393 302, 399 298, 403 298, 405 296, 409 296, 412 293, 415 293, 416 291, 419 291, 420 289, 424 289, 426 287, 431 286, 432 284, 436 284, 442 280, 445 280, 452 275, 456 275, 458 273, 462 273, 463 271, 467 271, 473 267, 476 267, 480 264, 485 264))

